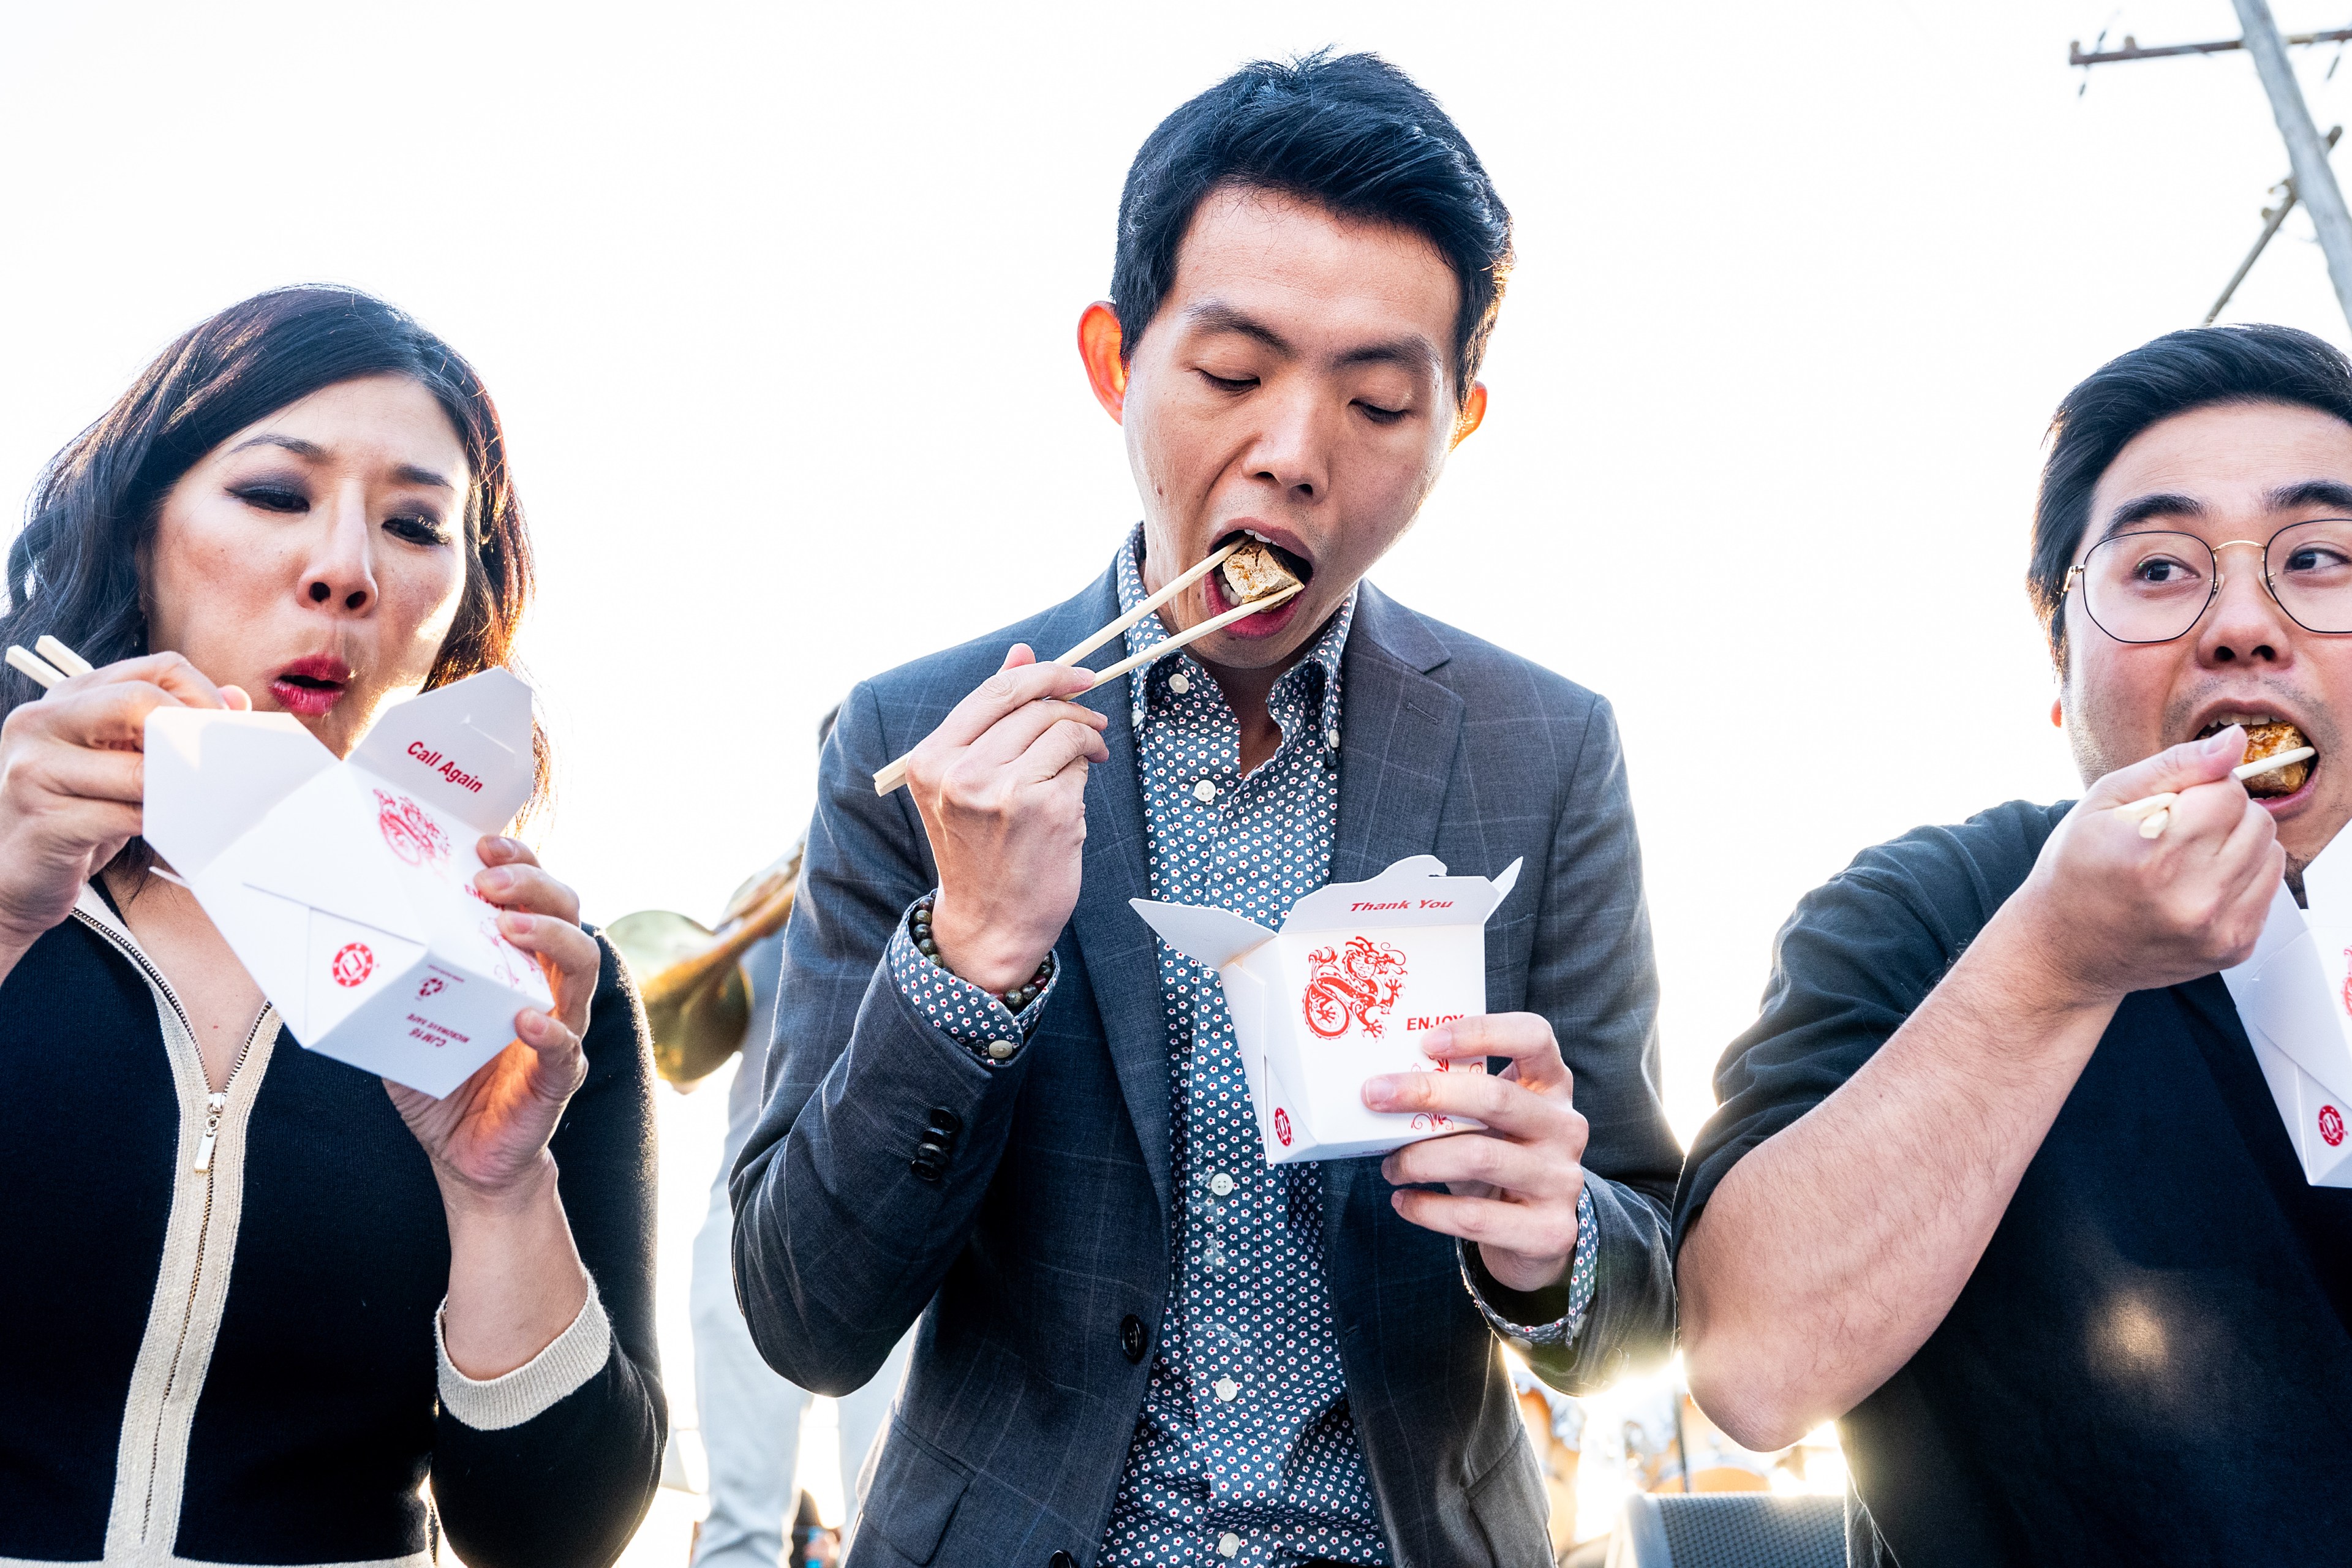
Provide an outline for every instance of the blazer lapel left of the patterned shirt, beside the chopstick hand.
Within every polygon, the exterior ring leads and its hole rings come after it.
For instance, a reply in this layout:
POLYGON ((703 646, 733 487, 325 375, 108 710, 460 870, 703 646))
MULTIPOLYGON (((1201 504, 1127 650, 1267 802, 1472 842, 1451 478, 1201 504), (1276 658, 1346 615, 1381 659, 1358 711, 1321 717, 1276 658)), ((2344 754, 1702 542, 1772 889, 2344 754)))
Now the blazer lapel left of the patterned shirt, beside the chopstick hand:
MULTIPOLYGON (((1084 630, 1091 632, 1120 614, 1117 578, 1105 576, 1087 602, 1094 614, 1084 630)), ((1077 642, 1077 635, 1070 642, 1077 642)), ((1112 637, 1082 663, 1103 670, 1120 658, 1127 658, 1127 639, 1112 637)), ((1152 891, 1136 729, 1129 722, 1134 701, 1129 679, 1122 675, 1098 686, 1108 698, 1103 712, 1110 715, 1110 729, 1103 731, 1103 745, 1110 748, 1110 762, 1087 771, 1087 849, 1070 931, 1087 964, 1094 1006, 1103 1016, 1110 1063, 1120 1074, 1127 1114, 1136 1124, 1136 1143, 1143 1145, 1143 1164, 1152 1173, 1152 1192, 1160 1194, 1160 1220, 1167 1222, 1171 1112, 1169 1037, 1160 1016, 1160 950, 1152 929, 1127 907, 1129 898, 1150 898, 1152 891)))

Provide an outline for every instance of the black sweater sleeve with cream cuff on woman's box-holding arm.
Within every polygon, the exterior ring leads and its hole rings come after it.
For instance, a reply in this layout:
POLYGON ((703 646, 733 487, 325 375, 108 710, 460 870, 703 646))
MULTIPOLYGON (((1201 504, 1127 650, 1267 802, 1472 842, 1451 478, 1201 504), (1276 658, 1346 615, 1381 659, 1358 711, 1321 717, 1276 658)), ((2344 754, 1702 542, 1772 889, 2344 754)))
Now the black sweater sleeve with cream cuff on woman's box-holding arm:
MULTIPOLYGON (((433 1502, 468 1568, 602 1568, 661 1479, 668 1403, 654 1352, 654 1060, 635 985, 602 936, 588 1081, 548 1145, 588 1302, 503 1378, 440 1356, 433 1502)), ((440 1324, 435 1321, 435 1345, 440 1324)))

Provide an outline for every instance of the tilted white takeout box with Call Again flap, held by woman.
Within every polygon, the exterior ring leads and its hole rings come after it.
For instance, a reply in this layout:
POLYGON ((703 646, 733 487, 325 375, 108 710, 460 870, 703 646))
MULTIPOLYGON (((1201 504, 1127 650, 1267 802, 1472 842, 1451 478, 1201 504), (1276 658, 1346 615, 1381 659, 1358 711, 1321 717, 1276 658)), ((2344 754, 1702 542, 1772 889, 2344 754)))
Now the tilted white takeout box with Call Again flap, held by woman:
POLYGON ((447 1095, 553 1004, 473 846, 532 795, 532 689, 485 670, 346 762, 285 712, 158 708, 146 839, 306 1048, 447 1095))

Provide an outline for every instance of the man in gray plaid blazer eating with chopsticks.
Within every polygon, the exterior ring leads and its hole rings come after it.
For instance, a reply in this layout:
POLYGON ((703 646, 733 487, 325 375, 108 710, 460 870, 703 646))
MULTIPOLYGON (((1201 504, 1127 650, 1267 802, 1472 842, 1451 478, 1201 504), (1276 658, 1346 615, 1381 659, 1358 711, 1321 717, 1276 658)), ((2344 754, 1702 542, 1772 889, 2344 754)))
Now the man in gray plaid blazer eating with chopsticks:
MULTIPOLYGON (((814 1389, 922 1319, 856 1568, 1543 1563, 1496 1335, 1566 1389, 1668 1352, 1679 1152, 1609 705, 1362 581, 1484 416, 1508 266, 1477 155, 1378 59, 1178 108, 1080 322, 1141 527, 1077 597, 842 710, 734 1260, 814 1389), (1096 708, 1035 661, 1242 536, 1305 590, 1096 708), (1364 1100, 1484 1131, 1268 1166, 1216 976, 1127 900, 1279 924, 1418 853, 1526 860, 1491 1013, 1425 1046, 1503 1070, 1364 1100)), ((1087 663, 1230 607, 1211 574, 1087 663)))

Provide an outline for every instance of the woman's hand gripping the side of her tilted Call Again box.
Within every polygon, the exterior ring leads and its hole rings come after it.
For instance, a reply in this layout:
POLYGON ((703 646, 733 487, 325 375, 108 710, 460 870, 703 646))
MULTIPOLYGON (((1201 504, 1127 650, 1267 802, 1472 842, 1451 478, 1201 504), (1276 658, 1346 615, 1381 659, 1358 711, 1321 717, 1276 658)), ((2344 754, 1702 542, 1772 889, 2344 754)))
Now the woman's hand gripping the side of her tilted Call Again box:
POLYGON ((539 870, 529 849, 489 837, 477 853, 485 870, 473 886, 499 907, 499 933, 539 959, 555 1006, 515 1013, 515 1041, 442 1100, 393 1081, 386 1088, 416 1143, 426 1145, 442 1201, 508 1208, 543 1197, 553 1182, 548 1138, 588 1077, 581 1037, 602 954, 581 931, 581 900, 539 870))

